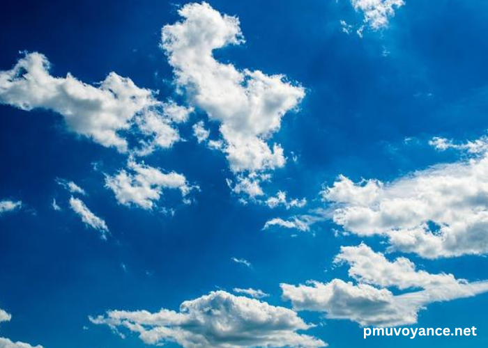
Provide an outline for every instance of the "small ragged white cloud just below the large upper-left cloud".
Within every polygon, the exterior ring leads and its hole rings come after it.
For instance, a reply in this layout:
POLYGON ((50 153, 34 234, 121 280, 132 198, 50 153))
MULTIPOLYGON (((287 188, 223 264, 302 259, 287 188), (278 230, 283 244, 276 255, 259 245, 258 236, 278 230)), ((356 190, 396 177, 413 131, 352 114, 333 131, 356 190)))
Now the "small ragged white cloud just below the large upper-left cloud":
POLYGON ((122 205, 152 209, 160 200, 163 189, 179 189, 183 197, 192 189, 185 176, 174 172, 162 173, 158 168, 137 164, 132 159, 128 161, 128 171, 121 170, 114 176, 105 177, 106 186, 114 191, 122 205))

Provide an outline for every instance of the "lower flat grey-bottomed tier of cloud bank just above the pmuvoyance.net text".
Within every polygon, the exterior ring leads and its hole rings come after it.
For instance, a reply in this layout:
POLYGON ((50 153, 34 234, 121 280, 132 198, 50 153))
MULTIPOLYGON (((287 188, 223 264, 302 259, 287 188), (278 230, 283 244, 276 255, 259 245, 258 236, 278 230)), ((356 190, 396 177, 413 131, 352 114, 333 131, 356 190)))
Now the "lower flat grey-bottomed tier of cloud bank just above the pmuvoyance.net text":
POLYGON ((454 290, 422 290, 394 295, 367 284, 340 279, 308 285, 282 284, 284 299, 296 310, 326 313, 329 319, 349 319, 361 326, 404 326, 418 321, 418 312, 429 303, 475 296, 488 291, 488 283, 460 284, 454 290))

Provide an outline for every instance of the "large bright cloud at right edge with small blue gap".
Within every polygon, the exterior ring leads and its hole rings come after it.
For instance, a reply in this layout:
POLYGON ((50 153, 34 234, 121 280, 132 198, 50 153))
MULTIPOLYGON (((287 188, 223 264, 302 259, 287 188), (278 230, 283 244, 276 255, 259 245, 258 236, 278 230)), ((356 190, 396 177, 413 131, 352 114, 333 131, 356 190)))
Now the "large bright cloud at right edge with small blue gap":
POLYGON ((423 258, 488 251, 488 157, 434 166, 394 182, 340 177, 323 191, 333 220, 361 236, 423 258))

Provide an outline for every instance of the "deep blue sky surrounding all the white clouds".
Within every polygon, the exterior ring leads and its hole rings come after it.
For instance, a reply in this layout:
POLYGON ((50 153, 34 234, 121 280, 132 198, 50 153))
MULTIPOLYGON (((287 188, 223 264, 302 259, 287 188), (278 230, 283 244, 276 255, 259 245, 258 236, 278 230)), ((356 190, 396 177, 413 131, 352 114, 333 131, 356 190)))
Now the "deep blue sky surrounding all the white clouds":
MULTIPOLYGON (((284 73, 307 88, 300 111, 285 116, 274 137, 298 161, 275 172, 270 191, 286 189, 318 206, 321 185, 337 175, 392 180, 456 159, 429 148, 432 136, 485 134, 486 1, 406 0, 388 29, 367 31, 364 38, 342 32, 340 19, 362 20, 346 0, 210 3, 237 15, 246 38, 245 45, 216 53, 220 60, 284 73), (406 137, 413 141, 405 143, 406 137)), ((54 76, 71 72, 94 83, 114 71, 170 97, 173 75, 159 44, 162 26, 178 20, 176 10, 163 0, 3 1, 0 70, 10 69, 20 51, 42 52, 54 76)), ((67 132, 61 116, 3 105, 0 122, 0 198, 24 203, 19 212, 0 217, 0 308, 13 315, 1 326, 3 337, 46 348, 144 347, 135 336, 121 340, 93 326, 88 316, 115 308, 176 309, 186 299, 233 287, 259 288, 272 295, 268 302, 289 306, 280 299, 279 283, 344 276, 344 269, 331 268, 333 256, 341 245, 361 240, 334 237, 328 221, 314 226, 314 234, 297 237, 261 230, 268 219, 289 213, 241 205, 225 182, 230 174, 224 155, 192 139, 192 122, 182 129, 188 141, 147 159, 185 173, 201 188, 193 205, 171 194, 165 198, 165 205, 176 207, 174 217, 118 205, 104 188, 103 172, 122 168, 125 156, 67 132), (89 193, 85 203, 112 232, 107 242, 70 212, 69 194, 56 177, 89 193), (52 198, 63 212, 52 209, 52 198), (252 269, 232 257, 250 260, 252 269)), ((368 240, 383 250, 379 242, 368 240)), ((486 258, 411 259, 432 273, 488 278, 486 258)), ((434 304, 420 314, 419 326, 477 326, 476 338, 364 341, 357 324, 337 320, 325 320, 310 333, 337 348, 483 347, 487 306, 485 294, 434 304)), ((316 314, 303 317, 320 321, 316 314)))

